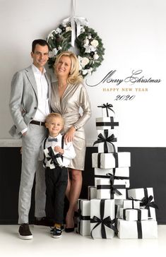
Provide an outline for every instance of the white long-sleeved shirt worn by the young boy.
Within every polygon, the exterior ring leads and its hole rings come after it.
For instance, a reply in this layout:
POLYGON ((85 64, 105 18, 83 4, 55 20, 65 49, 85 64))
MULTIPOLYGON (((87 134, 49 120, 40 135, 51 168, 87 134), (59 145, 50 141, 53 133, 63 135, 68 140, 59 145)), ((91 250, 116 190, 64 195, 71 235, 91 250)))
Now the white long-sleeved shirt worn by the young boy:
MULTIPOLYGON (((52 138, 51 136, 49 136, 48 138, 52 138)), ((45 149, 52 147, 52 150, 54 151, 54 155, 57 155, 58 152, 56 152, 54 150, 55 146, 59 146, 61 147, 61 133, 59 133, 59 135, 57 137, 57 142, 52 141, 52 142, 48 142, 48 139, 45 142, 45 149)), ((45 139, 44 139, 45 141, 45 139)), ((42 145, 40 146, 40 155, 39 155, 39 160, 43 160, 44 159, 44 141, 42 141, 42 145)), ((65 143, 64 142, 64 154, 63 156, 63 166, 64 167, 68 167, 70 164, 70 160, 73 159, 74 157, 76 157, 76 152, 73 148, 73 143, 69 142, 69 143, 65 143)), ((46 160, 46 166, 47 166, 47 160, 46 160)))

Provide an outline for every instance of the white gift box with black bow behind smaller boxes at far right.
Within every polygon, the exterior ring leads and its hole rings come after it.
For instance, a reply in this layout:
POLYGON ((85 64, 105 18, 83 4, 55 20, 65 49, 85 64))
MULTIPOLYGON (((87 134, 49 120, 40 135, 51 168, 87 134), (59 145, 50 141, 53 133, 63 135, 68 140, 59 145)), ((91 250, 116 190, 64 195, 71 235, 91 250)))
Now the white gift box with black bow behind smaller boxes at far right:
POLYGON ((141 188, 141 189, 128 189, 128 197, 141 201, 141 206, 148 209, 148 217, 156 220, 155 208, 158 208, 154 203, 153 188, 141 188))

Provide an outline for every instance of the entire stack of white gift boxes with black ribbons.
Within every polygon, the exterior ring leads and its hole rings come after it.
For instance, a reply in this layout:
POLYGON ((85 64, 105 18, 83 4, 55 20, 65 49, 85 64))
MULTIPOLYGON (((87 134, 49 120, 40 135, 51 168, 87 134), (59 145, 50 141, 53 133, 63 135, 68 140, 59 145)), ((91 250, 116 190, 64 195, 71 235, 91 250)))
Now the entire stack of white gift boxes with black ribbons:
POLYGON ((95 186, 88 200, 78 199, 78 233, 93 238, 157 238, 153 188, 129 189, 131 154, 118 152, 117 121, 112 104, 102 104, 96 118, 98 153, 92 154, 95 186))

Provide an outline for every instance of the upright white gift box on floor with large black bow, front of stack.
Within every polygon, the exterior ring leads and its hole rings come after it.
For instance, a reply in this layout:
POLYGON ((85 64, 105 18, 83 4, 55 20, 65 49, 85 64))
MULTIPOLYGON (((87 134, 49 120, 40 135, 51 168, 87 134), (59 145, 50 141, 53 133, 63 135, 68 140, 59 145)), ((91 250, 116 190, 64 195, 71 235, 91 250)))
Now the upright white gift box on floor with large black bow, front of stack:
MULTIPOLYGON (((114 200, 110 199, 93 199, 90 200, 90 232, 91 236, 95 238, 103 238, 102 237, 102 228, 105 229, 105 234, 107 239, 112 239, 114 237, 114 230, 103 225, 104 219, 110 218, 112 220, 112 225, 115 226, 114 222, 114 200), (104 210, 103 210, 104 208, 104 210), (103 214, 103 217, 101 217, 103 214), (97 217, 99 222, 95 222, 95 217, 97 217), (96 226, 97 225, 97 226, 96 226), (95 227, 96 226, 96 227, 95 227)), ((105 224, 105 222, 104 222, 105 224)))

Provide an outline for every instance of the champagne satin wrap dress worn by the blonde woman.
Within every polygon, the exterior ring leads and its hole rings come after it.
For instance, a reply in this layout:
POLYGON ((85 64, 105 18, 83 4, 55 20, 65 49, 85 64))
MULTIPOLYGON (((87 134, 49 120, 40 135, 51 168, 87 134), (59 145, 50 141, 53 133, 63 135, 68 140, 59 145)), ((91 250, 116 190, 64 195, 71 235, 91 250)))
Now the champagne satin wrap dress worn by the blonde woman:
POLYGON ((83 170, 85 165, 85 131, 83 126, 90 118, 90 100, 83 83, 67 85, 61 99, 59 97, 58 83, 52 83, 52 112, 61 114, 64 119, 64 133, 76 125, 78 128, 74 133, 73 147, 76 157, 71 160, 69 168, 83 170), (80 107, 83 111, 80 114, 80 107))

